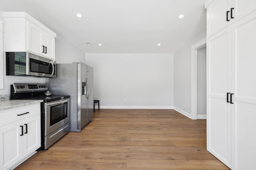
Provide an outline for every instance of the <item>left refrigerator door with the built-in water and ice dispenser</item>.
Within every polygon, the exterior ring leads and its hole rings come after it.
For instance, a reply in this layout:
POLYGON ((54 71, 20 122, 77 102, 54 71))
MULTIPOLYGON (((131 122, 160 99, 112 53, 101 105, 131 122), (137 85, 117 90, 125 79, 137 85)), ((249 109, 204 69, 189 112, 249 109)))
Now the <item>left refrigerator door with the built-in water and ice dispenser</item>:
POLYGON ((88 123, 86 102, 88 83, 86 64, 78 63, 77 68, 77 131, 80 132, 88 123))

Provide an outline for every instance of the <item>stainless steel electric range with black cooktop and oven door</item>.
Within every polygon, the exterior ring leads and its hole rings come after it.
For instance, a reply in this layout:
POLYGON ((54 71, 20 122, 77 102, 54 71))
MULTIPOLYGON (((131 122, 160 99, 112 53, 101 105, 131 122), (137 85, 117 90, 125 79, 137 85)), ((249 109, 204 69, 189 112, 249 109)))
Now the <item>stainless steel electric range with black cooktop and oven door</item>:
POLYGON ((70 131, 70 96, 45 96, 46 84, 11 84, 11 100, 43 100, 41 103, 41 149, 52 144, 70 131))

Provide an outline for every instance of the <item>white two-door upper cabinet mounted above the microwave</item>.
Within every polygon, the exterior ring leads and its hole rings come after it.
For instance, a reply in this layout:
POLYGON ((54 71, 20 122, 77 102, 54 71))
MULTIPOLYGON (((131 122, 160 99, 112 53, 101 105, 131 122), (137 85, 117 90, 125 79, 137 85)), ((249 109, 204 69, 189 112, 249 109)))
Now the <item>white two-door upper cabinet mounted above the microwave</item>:
POLYGON ((25 12, 3 12, 4 51, 28 51, 55 60, 56 33, 25 12))

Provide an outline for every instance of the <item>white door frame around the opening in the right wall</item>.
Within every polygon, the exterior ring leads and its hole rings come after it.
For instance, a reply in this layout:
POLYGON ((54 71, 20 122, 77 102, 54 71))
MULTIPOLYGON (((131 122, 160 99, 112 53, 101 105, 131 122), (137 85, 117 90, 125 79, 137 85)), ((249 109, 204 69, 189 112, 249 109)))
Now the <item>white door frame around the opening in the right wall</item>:
POLYGON ((191 119, 197 117, 197 51, 206 47, 206 37, 191 45, 191 119))

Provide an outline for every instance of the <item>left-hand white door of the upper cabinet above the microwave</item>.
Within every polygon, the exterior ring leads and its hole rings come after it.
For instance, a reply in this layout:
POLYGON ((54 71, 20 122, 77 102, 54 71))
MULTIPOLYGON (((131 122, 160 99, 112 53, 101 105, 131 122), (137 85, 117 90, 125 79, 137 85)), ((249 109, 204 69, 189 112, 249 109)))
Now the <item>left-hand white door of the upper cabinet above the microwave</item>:
POLYGON ((43 51, 43 30, 35 25, 34 23, 28 21, 28 51, 37 53, 39 55, 44 55, 43 51))

